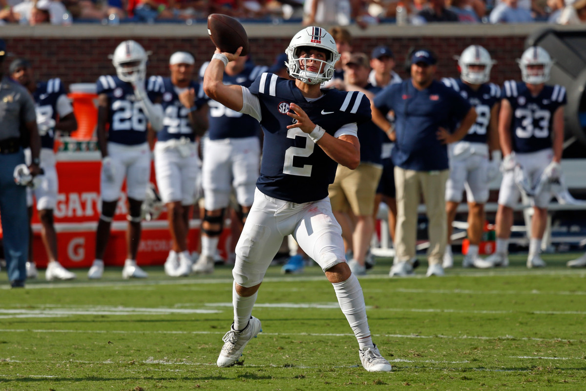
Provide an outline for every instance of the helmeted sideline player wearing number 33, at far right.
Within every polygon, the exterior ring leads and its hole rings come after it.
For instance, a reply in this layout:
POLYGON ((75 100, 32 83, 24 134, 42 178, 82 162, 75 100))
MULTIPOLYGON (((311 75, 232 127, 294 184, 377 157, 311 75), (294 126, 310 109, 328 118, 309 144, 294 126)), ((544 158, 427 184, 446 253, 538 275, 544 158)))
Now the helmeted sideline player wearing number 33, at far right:
MULTIPOLYGON (((517 62, 523 81, 505 81, 501 92, 499 137, 504 173, 496 212, 496 252, 486 259, 495 266, 509 264, 507 254, 513 206, 520 195, 517 182, 537 183, 542 174, 548 180, 556 180, 561 175, 565 88, 545 84, 549 80, 553 61, 543 47, 529 47, 517 62)), ((540 249, 550 199, 549 191, 530 197, 533 218, 527 257, 529 268, 546 266, 540 257, 540 249)))

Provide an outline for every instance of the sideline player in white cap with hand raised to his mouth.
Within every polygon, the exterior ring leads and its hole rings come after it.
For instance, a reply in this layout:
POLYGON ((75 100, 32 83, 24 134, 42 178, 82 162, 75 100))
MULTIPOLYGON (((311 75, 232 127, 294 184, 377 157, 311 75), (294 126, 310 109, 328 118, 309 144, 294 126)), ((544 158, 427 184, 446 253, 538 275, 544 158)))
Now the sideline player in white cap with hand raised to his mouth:
POLYGON ((155 174, 173 242, 165 262, 165 273, 172 277, 191 273, 187 236, 200 175, 196 137, 207 128, 207 104, 196 98, 200 87, 192 80, 193 64, 190 53, 173 53, 169 58, 171 77, 151 76, 147 87, 149 92, 162 94, 165 113, 155 143, 155 174))

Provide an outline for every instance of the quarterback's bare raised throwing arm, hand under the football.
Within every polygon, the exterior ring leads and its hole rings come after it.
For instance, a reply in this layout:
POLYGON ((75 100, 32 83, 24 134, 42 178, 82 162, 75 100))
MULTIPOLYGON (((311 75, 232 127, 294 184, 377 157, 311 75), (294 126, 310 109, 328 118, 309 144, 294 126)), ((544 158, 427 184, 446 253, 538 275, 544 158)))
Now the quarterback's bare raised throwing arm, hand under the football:
MULTIPOLYGON (((216 48, 214 55, 224 55, 228 61, 234 61, 240 56, 242 47, 236 50, 236 53, 222 53, 216 48)), ((242 110, 244 100, 242 98, 242 87, 238 85, 224 85, 224 63, 222 60, 214 59, 206 67, 206 73, 203 75, 203 91, 213 100, 223 104, 234 111, 242 110)))

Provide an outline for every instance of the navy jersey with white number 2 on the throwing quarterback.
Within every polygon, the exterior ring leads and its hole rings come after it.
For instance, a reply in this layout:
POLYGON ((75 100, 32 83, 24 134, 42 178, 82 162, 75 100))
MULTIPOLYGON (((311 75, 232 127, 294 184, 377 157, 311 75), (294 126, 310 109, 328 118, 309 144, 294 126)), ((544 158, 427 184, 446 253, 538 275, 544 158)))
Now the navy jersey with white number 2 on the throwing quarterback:
POLYGON ((313 123, 334 135, 343 125, 370 120, 368 98, 358 91, 322 90, 321 98, 308 102, 294 80, 272 73, 263 73, 254 80, 250 92, 260 100, 264 130, 258 189, 295 203, 326 198, 338 163, 301 129, 287 129, 294 123, 287 115, 289 103, 298 104, 313 123))

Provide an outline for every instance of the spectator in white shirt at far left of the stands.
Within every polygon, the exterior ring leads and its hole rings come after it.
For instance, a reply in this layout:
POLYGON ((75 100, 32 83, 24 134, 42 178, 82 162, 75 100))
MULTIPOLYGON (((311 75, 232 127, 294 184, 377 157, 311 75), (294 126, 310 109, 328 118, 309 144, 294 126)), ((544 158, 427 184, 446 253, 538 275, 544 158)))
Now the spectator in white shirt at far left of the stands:
POLYGON ((23 1, 12 8, 12 13, 15 21, 31 26, 42 23, 62 25, 67 19, 64 19, 67 10, 62 2, 52 0, 23 1))

